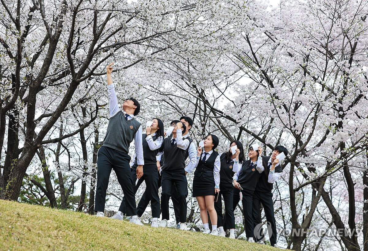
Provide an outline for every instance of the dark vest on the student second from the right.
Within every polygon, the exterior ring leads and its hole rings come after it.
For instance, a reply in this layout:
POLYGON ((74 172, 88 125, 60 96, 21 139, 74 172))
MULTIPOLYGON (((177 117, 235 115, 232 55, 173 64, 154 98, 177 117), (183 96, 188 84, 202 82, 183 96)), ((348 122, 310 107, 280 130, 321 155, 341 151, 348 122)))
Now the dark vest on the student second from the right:
POLYGON ((237 180, 241 187, 248 192, 254 192, 259 176, 261 176, 256 169, 256 165, 251 166, 252 164, 251 160, 243 163, 237 180))

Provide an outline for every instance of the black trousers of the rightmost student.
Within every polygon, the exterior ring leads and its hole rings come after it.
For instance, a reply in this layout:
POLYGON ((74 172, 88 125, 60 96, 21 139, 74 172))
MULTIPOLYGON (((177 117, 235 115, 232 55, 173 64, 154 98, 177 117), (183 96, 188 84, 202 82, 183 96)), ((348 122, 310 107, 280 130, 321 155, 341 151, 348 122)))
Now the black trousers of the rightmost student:
MULTIPOLYGON (((270 237, 270 243, 271 245, 275 245, 277 242, 277 232, 276 232, 276 220, 275 220, 275 212, 273 210, 273 200, 272 200, 272 192, 258 192, 254 191, 253 194, 253 222, 254 222, 254 228, 261 223, 260 217, 259 217, 259 208, 260 204, 262 203, 263 209, 265 210, 266 220, 271 225, 271 230, 268 232, 268 235, 270 237)), ((269 229, 269 228, 268 228, 269 229)), ((262 229, 261 229, 262 230, 262 229)), ((254 236, 255 241, 260 241, 264 238, 263 231, 259 231, 259 234, 256 234, 254 236)))

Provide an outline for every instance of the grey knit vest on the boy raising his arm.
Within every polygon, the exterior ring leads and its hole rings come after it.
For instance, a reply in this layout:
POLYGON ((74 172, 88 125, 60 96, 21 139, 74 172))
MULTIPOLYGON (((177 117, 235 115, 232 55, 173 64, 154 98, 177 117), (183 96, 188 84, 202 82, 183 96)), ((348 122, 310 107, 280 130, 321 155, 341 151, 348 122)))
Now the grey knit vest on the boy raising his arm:
POLYGON ((134 118, 128 121, 125 120, 124 113, 119 111, 109 120, 103 146, 129 153, 129 145, 140 126, 141 123, 134 118))

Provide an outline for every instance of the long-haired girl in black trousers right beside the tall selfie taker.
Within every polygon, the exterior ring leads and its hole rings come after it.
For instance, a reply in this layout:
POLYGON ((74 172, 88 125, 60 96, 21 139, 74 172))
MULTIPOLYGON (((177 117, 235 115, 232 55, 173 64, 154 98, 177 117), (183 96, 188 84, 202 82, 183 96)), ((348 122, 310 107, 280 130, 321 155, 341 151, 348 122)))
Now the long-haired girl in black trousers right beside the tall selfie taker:
MULTIPOLYGON (((162 142, 164 138, 163 123, 160 119, 152 119, 152 125, 146 128, 146 133, 142 135, 143 138, 143 158, 145 165, 143 166, 143 175, 139 179, 139 183, 134 186, 134 193, 137 192, 139 185, 143 181, 146 182, 146 191, 151 200, 152 220, 151 226, 158 227, 158 218, 160 217, 160 198, 158 194, 158 173, 156 165, 156 155, 162 151, 162 142)), ((133 184, 137 181, 136 169, 138 167, 137 157, 132 163, 132 178, 133 184)), ((123 219, 125 215, 126 204, 125 197, 121 201, 119 211, 112 216, 113 219, 123 219)))

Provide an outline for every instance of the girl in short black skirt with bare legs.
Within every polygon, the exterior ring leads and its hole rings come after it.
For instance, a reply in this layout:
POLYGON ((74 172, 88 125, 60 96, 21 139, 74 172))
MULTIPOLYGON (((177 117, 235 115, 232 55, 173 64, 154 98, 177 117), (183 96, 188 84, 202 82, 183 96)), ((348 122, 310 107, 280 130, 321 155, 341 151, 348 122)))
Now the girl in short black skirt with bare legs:
POLYGON ((212 225, 212 232, 208 226, 208 216, 212 224, 217 224, 217 214, 214 206, 215 194, 220 192, 220 156, 213 150, 219 145, 219 138, 209 134, 204 140, 204 152, 199 146, 197 150, 196 170, 193 178, 193 193, 201 210, 204 233, 217 235, 217 225, 212 225))

